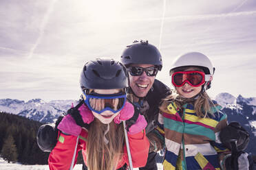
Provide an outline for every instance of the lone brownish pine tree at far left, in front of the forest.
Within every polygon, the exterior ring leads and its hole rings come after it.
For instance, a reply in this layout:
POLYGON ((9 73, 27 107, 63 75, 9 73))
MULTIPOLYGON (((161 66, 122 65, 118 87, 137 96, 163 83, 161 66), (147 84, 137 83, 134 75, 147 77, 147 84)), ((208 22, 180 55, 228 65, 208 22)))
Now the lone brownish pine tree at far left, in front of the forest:
POLYGON ((8 163, 10 161, 16 162, 18 158, 17 148, 14 144, 14 139, 12 135, 10 134, 8 138, 6 138, 6 141, 3 143, 3 148, 1 151, 1 155, 3 156, 4 160, 7 160, 8 163))

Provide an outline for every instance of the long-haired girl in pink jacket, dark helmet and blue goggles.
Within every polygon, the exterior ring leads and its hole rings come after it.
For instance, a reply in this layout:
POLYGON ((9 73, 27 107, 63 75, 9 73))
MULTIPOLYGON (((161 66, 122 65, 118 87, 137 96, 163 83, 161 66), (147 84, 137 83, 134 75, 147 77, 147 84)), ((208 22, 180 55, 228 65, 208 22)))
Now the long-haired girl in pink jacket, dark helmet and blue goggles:
POLYGON ((58 124, 58 142, 48 159, 50 169, 73 169, 78 151, 90 170, 126 169, 129 159, 120 122, 130 119, 134 121, 126 128, 131 162, 134 167, 145 166, 147 121, 134 113, 134 106, 126 100, 125 66, 108 58, 89 61, 81 72, 80 84, 83 100, 58 124))

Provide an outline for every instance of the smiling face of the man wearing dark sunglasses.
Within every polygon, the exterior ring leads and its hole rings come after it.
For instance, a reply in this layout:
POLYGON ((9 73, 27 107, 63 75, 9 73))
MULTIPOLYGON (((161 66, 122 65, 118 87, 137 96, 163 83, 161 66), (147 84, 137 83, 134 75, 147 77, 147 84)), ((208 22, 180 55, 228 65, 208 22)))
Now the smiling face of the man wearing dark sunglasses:
MULTIPOLYGON (((148 68, 154 66, 153 64, 131 64, 131 66, 140 66, 142 68, 148 68)), ((145 71, 142 75, 134 76, 129 73, 129 86, 138 97, 145 97, 153 86, 155 76, 148 76, 145 71)))

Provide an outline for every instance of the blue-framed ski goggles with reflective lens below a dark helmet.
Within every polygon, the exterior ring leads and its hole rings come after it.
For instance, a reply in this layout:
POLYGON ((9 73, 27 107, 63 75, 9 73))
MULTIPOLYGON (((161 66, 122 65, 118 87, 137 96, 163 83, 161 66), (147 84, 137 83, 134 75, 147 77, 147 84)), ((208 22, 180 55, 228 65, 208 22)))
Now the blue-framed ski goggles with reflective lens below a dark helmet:
POLYGON ((103 95, 98 93, 85 94, 85 104, 88 108, 98 114, 101 114, 105 110, 111 112, 119 112, 125 106, 126 94, 116 93, 111 95, 103 95))

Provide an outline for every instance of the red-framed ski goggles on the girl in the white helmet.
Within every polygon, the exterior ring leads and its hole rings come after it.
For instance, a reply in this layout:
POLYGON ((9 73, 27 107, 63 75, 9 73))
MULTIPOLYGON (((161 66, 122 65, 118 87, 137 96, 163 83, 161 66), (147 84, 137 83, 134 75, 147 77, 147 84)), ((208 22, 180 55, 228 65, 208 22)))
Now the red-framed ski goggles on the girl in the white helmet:
POLYGON ((202 71, 177 71, 171 75, 173 86, 180 87, 185 83, 198 87, 205 83, 204 72, 202 71))

